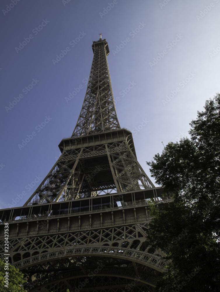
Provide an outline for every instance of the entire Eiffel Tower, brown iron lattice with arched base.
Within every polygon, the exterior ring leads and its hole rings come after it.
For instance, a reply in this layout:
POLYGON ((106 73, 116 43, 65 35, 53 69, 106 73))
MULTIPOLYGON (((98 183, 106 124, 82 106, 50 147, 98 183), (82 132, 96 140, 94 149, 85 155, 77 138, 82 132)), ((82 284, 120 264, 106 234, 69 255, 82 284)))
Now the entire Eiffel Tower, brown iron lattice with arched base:
POLYGON ((9 255, 28 291, 153 292, 167 262, 145 232, 149 200, 159 204, 162 188, 119 125, 101 34, 92 50, 83 106, 60 158, 24 206, 0 210, 1 259, 9 255))

